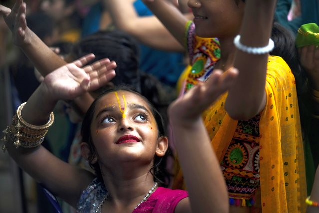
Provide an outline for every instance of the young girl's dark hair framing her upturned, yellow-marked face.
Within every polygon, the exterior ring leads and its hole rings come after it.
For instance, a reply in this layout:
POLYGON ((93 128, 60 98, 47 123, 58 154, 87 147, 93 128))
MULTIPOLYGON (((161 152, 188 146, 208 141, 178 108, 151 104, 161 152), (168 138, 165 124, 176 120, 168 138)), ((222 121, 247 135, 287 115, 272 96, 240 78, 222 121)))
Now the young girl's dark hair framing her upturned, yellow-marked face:
MULTIPOLYGON (((165 135, 164 122, 163 122, 163 119, 162 119, 160 113, 156 110, 156 108, 144 96, 142 96, 140 93, 132 90, 131 88, 128 88, 127 86, 117 86, 115 88, 105 90, 103 93, 101 93, 94 100, 94 102, 92 103, 92 105, 90 106, 88 111, 86 112, 84 119, 83 119, 83 122, 82 122, 82 128, 81 128, 82 140, 83 140, 83 142, 86 142, 89 145, 90 152, 91 152, 91 156, 88 159, 90 166, 95 170, 95 174, 97 175, 97 177, 100 180, 103 180, 103 179, 102 179, 102 173, 101 173, 101 169, 99 167, 99 164, 98 163, 94 163, 94 164, 91 163, 91 161, 94 159, 94 156, 96 156, 96 150, 95 150, 95 147, 93 145, 92 138, 91 138, 91 130, 90 130, 91 123, 92 123, 93 115, 95 113, 96 104, 99 102, 99 100, 103 96, 105 96, 106 94, 108 94, 110 92, 115 92, 115 91, 128 91, 128 92, 134 93, 134 94, 140 96, 141 98, 143 98, 144 101, 150 107, 151 112, 156 120, 156 124, 158 127, 158 136, 163 137, 165 135)), ((167 150, 167 152, 165 153, 165 155, 163 157, 158 157, 157 155, 155 155, 154 165, 152 166, 152 168, 150 170, 150 173, 154 177, 154 181, 158 182, 158 184, 160 186, 168 186, 168 184, 170 182, 171 174, 166 169, 168 157, 172 157, 172 152, 171 152, 170 148, 167 150)), ((103 182, 103 181, 101 181, 101 182, 103 182)))

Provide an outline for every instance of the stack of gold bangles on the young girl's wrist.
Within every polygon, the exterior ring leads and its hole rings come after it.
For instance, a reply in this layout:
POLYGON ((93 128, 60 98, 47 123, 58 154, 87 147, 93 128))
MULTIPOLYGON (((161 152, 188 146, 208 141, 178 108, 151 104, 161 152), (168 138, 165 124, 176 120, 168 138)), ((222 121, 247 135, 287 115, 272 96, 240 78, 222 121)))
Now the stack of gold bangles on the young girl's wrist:
POLYGON ((13 141, 15 147, 33 148, 39 146, 48 132, 48 128, 54 122, 54 114, 51 112, 49 121, 45 125, 32 125, 27 123, 21 116, 22 103, 13 116, 12 123, 3 131, 5 136, 1 139, 4 141, 2 146, 3 152, 6 150, 6 144, 9 140, 13 141))

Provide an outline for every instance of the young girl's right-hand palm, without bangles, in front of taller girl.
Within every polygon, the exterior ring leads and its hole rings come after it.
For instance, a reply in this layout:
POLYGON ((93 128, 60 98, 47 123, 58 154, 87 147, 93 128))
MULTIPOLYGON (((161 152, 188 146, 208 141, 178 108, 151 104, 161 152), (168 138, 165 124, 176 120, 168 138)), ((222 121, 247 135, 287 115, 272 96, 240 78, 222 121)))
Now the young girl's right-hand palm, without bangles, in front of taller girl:
POLYGON ((200 119, 203 111, 230 88, 237 75, 238 71, 235 68, 224 73, 215 70, 206 82, 199 83, 171 103, 168 109, 171 121, 188 125, 200 119))

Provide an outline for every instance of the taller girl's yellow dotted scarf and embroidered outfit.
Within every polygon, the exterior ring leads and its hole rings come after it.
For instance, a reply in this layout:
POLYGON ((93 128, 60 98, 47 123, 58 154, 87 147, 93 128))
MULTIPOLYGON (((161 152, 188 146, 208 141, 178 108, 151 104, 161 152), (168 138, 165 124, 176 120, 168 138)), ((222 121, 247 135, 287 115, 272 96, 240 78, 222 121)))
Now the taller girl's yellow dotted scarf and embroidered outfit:
MULTIPOLYGON (((190 73, 187 83, 205 80, 195 77, 190 73)), ((265 109, 248 121, 228 116, 224 109, 227 94, 203 114, 230 204, 249 206, 251 212, 304 212, 305 165, 295 79, 281 57, 268 59, 265 91, 265 109), (255 204, 256 194, 260 199, 255 204)), ((174 187, 185 188, 179 166, 176 172, 174 187)))

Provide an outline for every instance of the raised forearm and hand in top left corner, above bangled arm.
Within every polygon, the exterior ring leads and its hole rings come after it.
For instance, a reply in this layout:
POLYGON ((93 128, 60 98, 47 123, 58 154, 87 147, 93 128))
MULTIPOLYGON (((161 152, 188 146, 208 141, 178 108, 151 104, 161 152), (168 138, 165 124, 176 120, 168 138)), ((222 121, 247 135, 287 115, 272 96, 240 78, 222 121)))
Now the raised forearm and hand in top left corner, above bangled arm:
POLYGON ((42 76, 66 64, 27 27, 26 4, 23 0, 16 0, 12 10, 0 5, 0 15, 12 31, 15 45, 23 50, 42 76))

